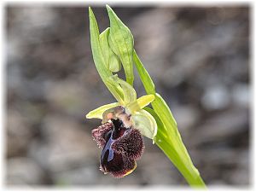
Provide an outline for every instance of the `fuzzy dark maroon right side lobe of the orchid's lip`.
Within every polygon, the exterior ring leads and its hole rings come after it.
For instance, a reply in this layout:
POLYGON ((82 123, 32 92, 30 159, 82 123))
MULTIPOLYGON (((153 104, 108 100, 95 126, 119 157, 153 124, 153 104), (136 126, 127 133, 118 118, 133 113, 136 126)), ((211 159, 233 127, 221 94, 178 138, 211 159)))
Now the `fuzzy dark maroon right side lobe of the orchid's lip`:
POLYGON ((117 153, 137 160, 142 156, 145 148, 142 134, 137 129, 130 129, 113 143, 112 148, 117 153))

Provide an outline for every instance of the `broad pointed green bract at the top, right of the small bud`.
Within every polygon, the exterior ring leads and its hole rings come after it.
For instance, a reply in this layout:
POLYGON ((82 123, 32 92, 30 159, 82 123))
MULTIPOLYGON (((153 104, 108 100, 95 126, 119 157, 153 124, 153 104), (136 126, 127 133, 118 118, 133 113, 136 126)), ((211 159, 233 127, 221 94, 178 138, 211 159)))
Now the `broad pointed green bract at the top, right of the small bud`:
POLYGON ((108 17, 110 20, 110 32, 108 43, 113 52, 119 56, 125 70, 126 81, 133 84, 133 37, 130 29, 119 20, 119 17, 108 5, 108 17))

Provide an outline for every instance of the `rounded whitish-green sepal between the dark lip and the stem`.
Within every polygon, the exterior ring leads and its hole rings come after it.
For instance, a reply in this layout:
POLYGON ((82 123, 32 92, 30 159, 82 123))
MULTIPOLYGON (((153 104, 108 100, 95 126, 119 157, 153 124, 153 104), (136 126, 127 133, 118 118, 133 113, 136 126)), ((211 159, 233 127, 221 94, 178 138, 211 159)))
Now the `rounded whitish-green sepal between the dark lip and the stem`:
POLYGON ((141 131, 142 135, 153 139, 157 134, 157 125, 154 117, 146 110, 142 109, 139 112, 131 115, 135 128, 141 131))

